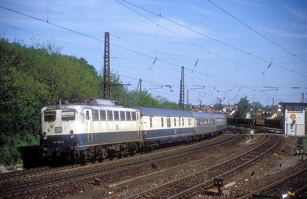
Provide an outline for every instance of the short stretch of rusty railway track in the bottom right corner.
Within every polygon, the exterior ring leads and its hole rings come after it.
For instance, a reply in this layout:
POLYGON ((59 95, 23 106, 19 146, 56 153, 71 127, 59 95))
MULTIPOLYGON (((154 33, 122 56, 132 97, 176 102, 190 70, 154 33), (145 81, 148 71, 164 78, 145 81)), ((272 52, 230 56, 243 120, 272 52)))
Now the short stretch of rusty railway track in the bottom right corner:
POLYGON ((307 168, 296 172, 286 178, 267 185, 239 199, 248 198, 282 198, 283 194, 290 191, 293 195, 286 198, 306 198, 307 196, 307 168), (304 192, 304 193, 303 193, 304 192))

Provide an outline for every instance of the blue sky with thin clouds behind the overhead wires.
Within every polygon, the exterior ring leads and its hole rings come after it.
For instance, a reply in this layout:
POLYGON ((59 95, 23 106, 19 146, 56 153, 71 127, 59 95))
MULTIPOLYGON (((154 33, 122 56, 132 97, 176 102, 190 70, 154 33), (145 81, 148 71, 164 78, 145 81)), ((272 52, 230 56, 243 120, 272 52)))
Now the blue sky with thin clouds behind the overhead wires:
POLYGON ((129 89, 142 79, 142 89, 178 102, 184 66, 185 103, 187 90, 194 105, 233 104, 244 96, 263 105, 273 98, 300 102, 302 93, 307 99, 305 1, 1 0, 0 6, 1 36, 27 45, 33 37, 53 38, 63 54, 84 57, 98 71, 109 32, 110 68, 129 89))

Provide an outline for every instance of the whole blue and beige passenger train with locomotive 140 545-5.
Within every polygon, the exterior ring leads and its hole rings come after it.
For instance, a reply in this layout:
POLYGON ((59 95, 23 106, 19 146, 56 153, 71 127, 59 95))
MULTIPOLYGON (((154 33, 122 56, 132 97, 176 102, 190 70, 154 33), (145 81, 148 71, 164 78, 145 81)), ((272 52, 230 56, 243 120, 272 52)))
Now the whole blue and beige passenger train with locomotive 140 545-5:
POLYGON ((122 156, 170 142, 195 142, 226 128, 220 114, 123 107, 105 99, 58 100, 41 109, 38 153, 48 159, 122 156))

